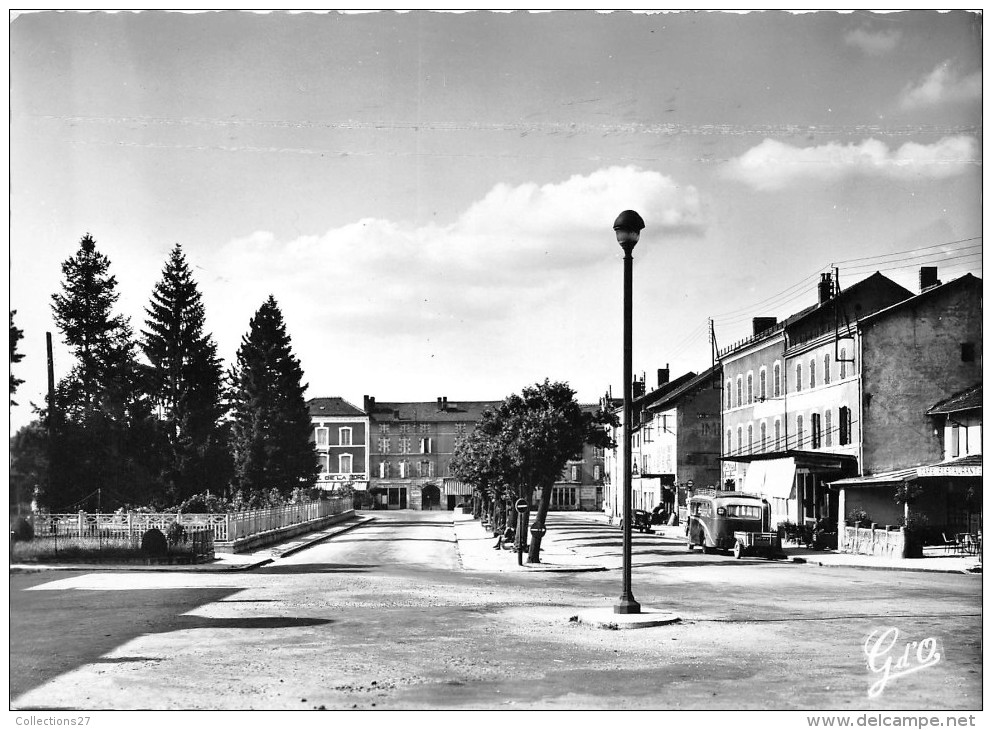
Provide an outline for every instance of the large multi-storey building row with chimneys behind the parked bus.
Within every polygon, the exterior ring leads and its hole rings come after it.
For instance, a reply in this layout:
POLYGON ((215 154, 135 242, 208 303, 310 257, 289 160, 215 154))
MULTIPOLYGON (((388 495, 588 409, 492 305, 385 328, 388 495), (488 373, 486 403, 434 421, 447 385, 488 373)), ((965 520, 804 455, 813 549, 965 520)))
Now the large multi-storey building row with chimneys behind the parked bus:
POLYGON ((922 414, 980 378, 978 279, 940 285, 926 267, 913 295, 878 273, 844 292, 828 276, 816 306, 756 320, 720 353, 725 483, 765 496, 776 523, 842 527, 851 505, 833 485, 939 459, 922 414))

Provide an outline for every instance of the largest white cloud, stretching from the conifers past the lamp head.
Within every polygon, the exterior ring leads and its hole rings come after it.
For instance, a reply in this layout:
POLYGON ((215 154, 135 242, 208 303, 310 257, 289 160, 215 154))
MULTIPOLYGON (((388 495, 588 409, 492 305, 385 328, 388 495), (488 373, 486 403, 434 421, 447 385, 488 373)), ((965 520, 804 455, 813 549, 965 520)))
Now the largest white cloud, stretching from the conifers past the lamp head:
POLYGON ((485 350, 493 332, 512 337, 533 327, 535 311, 554 319, 574 291, 590 296, 620 255, 612 225, 627 208, 644 218, 645 237, 702 227, 693 187, 611 167, 545 185, 497 185, 444 226, 367 218, 291 240, 252 233, 204 262, 223 272, 205 303, 225 356, 270 293, 290 335, 307 333, 300 347, 308 362, 325 350, 369 353, 414 339, 485 350))

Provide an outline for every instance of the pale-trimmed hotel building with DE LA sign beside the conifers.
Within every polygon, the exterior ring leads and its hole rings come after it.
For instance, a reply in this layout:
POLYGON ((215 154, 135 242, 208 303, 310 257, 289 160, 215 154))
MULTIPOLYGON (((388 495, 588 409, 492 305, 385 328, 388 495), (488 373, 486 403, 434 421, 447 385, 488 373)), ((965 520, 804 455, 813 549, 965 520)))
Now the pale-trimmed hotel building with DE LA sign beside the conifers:
POLYGON ((311 440, 317 451, 320 473, 317 486, 333 490, 368 487, 369 418, 344 398, 311 398, 307 401, 311 440))

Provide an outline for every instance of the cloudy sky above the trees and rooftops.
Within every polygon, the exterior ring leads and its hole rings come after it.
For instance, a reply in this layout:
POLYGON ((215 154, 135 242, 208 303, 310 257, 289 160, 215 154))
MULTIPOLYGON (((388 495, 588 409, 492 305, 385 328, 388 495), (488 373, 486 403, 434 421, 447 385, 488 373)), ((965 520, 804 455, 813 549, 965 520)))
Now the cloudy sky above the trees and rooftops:
POLYGON ((271 294, 308 397, 622 393, 874 271, 981 275, 975 13, 40 12, 10 26, 16 430, 72 365, 87 233, 140 335, 182 246, 234 361, 271 294))

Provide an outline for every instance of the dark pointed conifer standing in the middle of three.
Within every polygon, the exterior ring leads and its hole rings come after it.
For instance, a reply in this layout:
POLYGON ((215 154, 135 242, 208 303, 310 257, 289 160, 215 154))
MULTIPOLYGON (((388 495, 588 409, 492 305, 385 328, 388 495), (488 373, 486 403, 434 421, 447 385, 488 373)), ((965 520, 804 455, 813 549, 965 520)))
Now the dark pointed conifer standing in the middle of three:
POLYGON ((230 478, 220 427, 223 370, 217 345, 204 332, 202 298, 179 244, 145 312, 145 387, 159 409, 167 445, 164 496, 178 503, 200 491, 219 494, 230 478))

